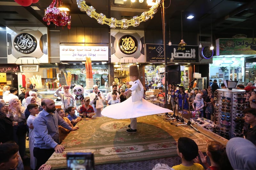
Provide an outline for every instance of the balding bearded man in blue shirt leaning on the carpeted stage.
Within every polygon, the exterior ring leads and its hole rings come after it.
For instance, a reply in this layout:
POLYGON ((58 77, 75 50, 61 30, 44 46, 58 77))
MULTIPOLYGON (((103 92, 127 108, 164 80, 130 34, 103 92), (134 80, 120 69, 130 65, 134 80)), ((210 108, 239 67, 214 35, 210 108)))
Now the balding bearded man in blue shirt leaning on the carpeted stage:
POLYGON ((56 153, 62 153, 64 146, 60 145, 59 140, 59 127, 62 127, 74 131, 78 127, 71 128, 56 112, 55 102, 46 98, 42 101, 42 108, 34 122, 34 156, 37 159, 36 169, 43 165, 55 151, 56 153))

